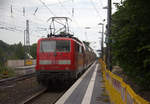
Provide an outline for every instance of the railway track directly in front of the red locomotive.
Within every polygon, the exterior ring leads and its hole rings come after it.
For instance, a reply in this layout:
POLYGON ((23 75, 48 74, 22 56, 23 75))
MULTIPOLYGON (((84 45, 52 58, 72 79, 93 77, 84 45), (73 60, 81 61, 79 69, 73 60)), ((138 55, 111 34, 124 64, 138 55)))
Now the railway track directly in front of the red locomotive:
POLYGON ((50 84, 48 88, 43 88, 41 91, 36 92, 20 104, 55 104, 72 84, 61 82, 50 84))

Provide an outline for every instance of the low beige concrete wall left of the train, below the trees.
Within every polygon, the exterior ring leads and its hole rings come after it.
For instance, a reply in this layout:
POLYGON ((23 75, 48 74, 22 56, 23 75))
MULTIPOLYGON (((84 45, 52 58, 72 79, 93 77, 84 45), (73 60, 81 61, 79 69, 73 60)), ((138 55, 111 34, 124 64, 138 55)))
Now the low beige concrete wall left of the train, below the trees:
MULTIPOLYGON (((33 63, 33 65, 35 65, 36 60, 32 60, 32 63, 33 63)), ((12 68, 24 66, 24 60, 8 60, 7 66, 12 67, 12 68)))

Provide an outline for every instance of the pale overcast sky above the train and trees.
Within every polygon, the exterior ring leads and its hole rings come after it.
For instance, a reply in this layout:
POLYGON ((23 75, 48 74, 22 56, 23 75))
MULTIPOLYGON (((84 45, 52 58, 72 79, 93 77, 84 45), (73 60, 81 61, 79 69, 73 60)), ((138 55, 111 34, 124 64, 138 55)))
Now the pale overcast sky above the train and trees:
MULTIPOLYGON (((119 0, 113 0, 113 2, 119 2, 119 0)), ((39 38, 46 36, 49 32, 48 18, 66 16, 72 19, 70 29, 74 32, 74 36, 80 40, 90 41, 92 47, 99 49, 101 34, 98 32, 101 31, 101 26, 98 26, 98 23, 106 24, 107 22, 107 9, 103 9, 106 6, 107 0, 0 0, 0 40, 9 44, 20 41, 24 43, 23 31, 28 19, 30 43, 36 43, 39 38), (91 27, 91 29, 85 29, 85 27, 91 27)), ((112 8, 114 12, 115 9, 112 8)))

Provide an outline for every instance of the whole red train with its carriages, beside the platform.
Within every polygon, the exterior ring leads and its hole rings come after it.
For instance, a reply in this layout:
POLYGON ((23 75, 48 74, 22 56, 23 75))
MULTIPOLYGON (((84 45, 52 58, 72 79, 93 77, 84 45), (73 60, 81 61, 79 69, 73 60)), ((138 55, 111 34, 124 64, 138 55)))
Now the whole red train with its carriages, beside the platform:
POLYGON ((96 59, 85 43, 70 35, 48 35, 37 43, 36 75, 42 85, 74 81, 96 59))

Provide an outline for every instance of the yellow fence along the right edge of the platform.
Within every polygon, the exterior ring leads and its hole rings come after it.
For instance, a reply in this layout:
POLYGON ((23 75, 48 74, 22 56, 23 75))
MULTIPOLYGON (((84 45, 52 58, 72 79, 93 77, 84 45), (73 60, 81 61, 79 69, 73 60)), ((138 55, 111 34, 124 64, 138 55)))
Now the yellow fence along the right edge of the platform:
POLYGON ((99 60, 102 67, 103 80, 109 94, 111 104, 150 104, 137 95, 123 79, 106 69, 106 64, 99 60))

